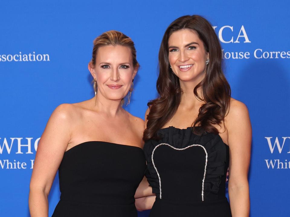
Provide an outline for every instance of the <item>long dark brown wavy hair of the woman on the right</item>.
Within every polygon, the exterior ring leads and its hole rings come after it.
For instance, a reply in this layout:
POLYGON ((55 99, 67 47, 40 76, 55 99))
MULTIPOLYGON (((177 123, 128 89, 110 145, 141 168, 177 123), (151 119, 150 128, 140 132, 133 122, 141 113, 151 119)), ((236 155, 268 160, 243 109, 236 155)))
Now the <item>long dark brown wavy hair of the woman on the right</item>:
POLYGON ((218 37, 205 18, 198 15, 179 17, 166 29, 160 45, 159 76, 156 83, 159 97, 147 104, 150 112, 143 140, 158 139, 157 131, 173 117, 180 104, 182 90, 179 78, 169 65, 168 39, 173 32, 182 29, 193 30, 198 34, 210 58, 204 79, 193 90, 193 94, 205 101, 205 104, 199 108, 198 117, 192 123, 192 131, 199 135, 204 132, 218 134, 214 124, 220 125, 227 114, 231 91, 222 71, 223 54, 218 37), (201 96, 197 92, 198 88, 201 88, 201 96))

